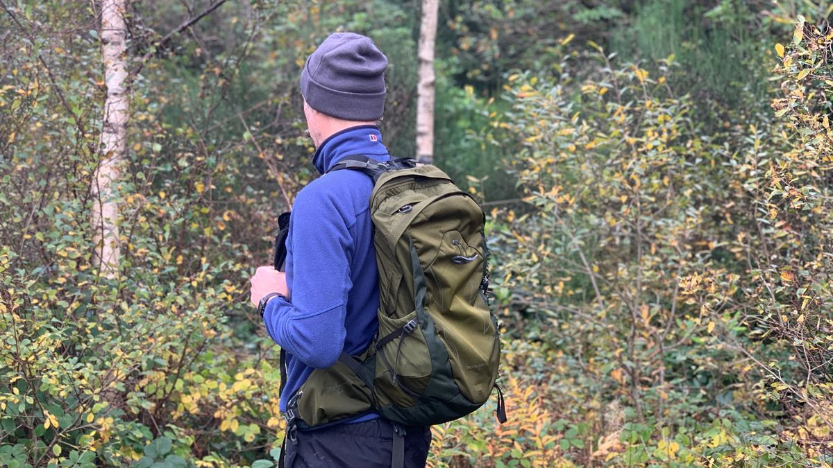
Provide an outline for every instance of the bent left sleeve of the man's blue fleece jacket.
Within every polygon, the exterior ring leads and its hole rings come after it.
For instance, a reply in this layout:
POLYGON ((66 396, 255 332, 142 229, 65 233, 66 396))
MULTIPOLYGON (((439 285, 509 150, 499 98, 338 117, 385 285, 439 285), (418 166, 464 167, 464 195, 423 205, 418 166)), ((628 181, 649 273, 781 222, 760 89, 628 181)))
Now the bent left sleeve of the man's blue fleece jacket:
POLYGON ((290 299, 269 301, 263 320, 272 340, 307 366, 332 366, 344 348, 354 222, 335 197, 314 190, 302 190, 292 207, 290 299))

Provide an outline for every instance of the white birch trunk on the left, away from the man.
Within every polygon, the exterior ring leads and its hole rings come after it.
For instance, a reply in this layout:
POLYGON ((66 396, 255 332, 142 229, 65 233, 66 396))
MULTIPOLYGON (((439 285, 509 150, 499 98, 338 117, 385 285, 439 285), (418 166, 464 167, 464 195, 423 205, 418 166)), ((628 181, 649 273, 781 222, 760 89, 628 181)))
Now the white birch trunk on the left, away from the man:
POLYGON ((127 12, 128 0, 102 0, 102 40, 104 82, 107 99, 99 142, 100 162, 92 182, 92 227, 100 271, 113 277, 119 256, 118 201, 114 186, 121 176, 127 150, 127 12))

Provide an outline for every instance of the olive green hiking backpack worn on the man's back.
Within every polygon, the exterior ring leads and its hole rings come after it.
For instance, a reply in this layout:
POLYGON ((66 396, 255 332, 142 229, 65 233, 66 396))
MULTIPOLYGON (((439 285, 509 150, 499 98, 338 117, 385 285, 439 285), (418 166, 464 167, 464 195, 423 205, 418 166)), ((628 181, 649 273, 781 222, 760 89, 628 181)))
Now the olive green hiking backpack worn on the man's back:
MULTIPOLYGON (((377 412, 403 426, 465 416, 496 388, 500 336, 486 299, 485 215, 434 166, 347 157, 375 182, 379 331, 361 356, 312 371, 287 405, 290 431, 377 412)), ((506 421, 499 388, 497 417, 506 421)))

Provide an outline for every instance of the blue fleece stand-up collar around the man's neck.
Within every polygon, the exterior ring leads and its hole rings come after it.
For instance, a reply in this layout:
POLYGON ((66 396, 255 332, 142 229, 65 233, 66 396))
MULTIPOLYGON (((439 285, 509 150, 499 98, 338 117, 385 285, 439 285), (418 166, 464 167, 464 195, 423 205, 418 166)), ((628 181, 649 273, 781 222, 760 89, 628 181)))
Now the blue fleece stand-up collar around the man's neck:
POLYGON ((363 155, 379 161, 388 159, 387 147, 382 144, 382 132, 375 125, 359 125, 333 133, 312 156, 312 164, 319 173, 327 173, 343 157, 363 155))

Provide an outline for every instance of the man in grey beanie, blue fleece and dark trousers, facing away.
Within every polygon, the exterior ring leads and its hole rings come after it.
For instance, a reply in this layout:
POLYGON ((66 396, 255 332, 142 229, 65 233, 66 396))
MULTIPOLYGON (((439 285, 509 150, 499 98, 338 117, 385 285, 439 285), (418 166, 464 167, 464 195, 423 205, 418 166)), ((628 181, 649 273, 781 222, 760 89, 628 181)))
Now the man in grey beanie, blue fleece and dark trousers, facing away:
MULTIPOLYGON (((269 336, 287 351, 281 411, 313 369, 332 366, 342 351, 358 355, 377 331, 379 287, 370 196, 362 172, 327 173, 343 157, 390 159, 375 122, 385 103, 387 58, 352 32, 322 42, 301 73, 304 115, 324 177, 298 193, 287 238, 286 274, 261 266, 252 303, 263 304, 269 336), (263 302, 262 302, 263 300, 263 302)), ((299 431, 287 442, 287 466, 391 466, 392 424, 377 414, 299 431)), ((408 428, 405 466, 425 466, 430 428, 408 428)))

